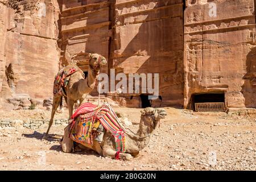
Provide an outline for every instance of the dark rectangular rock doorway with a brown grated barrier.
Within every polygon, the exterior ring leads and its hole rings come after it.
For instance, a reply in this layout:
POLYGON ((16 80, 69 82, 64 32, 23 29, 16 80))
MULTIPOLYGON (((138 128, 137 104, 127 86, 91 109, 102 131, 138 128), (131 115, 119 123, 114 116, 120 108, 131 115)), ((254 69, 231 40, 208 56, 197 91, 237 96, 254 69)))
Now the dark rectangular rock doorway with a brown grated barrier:
POLYGON ((193 111, 225 111, 225 93, 195 93, 191 104, 193 111))

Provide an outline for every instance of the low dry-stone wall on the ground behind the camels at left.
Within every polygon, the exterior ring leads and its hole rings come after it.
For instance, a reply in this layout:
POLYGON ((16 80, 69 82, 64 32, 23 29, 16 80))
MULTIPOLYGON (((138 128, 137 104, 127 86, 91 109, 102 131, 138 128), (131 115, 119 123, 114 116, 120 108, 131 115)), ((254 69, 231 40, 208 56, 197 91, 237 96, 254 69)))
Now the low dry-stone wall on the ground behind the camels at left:
MULTIPOLYGON (((49 124, 49 119, 28 119, 27 121, 22 120, 11 120, 1 119, 0 127, 26 127, 27 129, 39 129, 49 124)), ((68 125, 68 119, 55 119, 53 125, 68 125)))

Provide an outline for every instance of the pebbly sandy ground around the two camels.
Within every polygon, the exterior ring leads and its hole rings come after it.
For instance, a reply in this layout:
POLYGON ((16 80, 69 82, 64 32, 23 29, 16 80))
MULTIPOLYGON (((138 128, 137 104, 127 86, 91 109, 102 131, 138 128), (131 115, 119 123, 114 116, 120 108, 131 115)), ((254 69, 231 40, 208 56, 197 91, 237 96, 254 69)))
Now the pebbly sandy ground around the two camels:
MULTIPOLYGON (((137 131, 141 109, 114 108, 128 114, 137 131)), ((256 119, 239 114, 193 113, 167 107, 167 118, 138 158, 103 158, 92 150, 65 154, 53 126, 48 140, 43 129, 0 128, 1 170, 256 170, 256 119)), ((1 118, 49 118, 46 110, 0 111, 1 118)), ((56 118, 67 118, 67 111, 56 118)))

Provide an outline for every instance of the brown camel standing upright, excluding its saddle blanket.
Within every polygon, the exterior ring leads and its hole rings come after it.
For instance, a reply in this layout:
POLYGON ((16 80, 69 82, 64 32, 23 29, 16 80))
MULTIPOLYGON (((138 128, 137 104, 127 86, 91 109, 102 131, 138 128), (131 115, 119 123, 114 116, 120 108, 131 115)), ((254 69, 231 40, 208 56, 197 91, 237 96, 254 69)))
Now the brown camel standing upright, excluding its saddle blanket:
MULTIPOLYGON (((79 100, 80 105, 86 98, 86 95, 92 92, 96 86, 98 75, 100 74, 100 69, 103 65, 107 64, 107 61, 104 56, 98 55, 97 53, 89 53, 89 69, 88 76, 84 78, 80 72, 73 73, 69 78, 69 83, 66 88, 64 88, 65 102, 68 105, 69 119, 73 114, 73 105, 77 100, 79 100)), ((49 121, 48 130, 44 138, 46 139, 49 133, 49 129, 53 123, 53 117, 57 110, 57 107, 60 105, 62 97, 53 96, 52 104, 52 113, 51 119, 49 121)))

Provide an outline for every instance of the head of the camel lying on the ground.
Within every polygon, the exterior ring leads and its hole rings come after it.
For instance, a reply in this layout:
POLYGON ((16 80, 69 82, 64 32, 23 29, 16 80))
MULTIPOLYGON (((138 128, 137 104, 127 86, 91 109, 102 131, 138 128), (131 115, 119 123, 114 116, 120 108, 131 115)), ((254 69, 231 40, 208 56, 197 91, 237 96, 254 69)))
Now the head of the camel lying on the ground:
POLYGON ((154 109, 147 107, 141 111, 141 118, 144 121, 144 125, 151 126, 152 129, 155 129, 160 119, 165 118, 166 115, 166 110, 161 108, 154 109))

